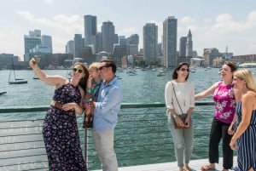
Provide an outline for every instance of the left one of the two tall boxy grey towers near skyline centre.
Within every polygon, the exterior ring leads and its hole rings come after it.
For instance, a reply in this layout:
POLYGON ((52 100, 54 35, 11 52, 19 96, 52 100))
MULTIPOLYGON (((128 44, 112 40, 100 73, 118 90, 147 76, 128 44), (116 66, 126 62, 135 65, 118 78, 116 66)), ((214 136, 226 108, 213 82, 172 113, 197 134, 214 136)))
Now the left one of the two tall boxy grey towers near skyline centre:
POLYGON ((158 26, 147 23, 143 26, 143 54, 144 60, 157 60, 158 26))

